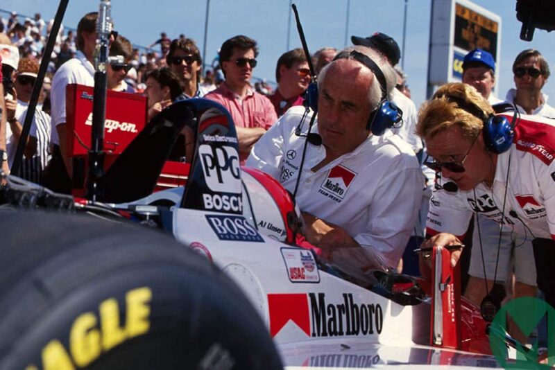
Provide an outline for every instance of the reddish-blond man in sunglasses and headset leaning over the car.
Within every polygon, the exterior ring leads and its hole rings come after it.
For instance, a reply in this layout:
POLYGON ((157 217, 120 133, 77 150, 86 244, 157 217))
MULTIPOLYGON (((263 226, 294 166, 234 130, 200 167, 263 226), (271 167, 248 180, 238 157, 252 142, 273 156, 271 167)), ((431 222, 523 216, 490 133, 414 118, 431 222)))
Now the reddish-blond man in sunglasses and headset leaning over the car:
MULTIPOLYGON (((555 123, 521 116, 511 136, 511 125, 499 128, 490 114, 486 100, 461 83, 443 85, 422 107, 417 132, 435 159, 428 165, 458 186, 456 192, 435 191, 427 224, 432 238, 425 245, 460 243, 473 212, 510 225, 535 239, 538 288, 554 306, 555 123)), ((459 254, 452 254, 453 264, 459 254)))

